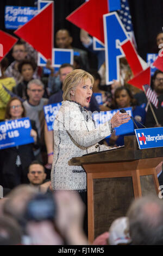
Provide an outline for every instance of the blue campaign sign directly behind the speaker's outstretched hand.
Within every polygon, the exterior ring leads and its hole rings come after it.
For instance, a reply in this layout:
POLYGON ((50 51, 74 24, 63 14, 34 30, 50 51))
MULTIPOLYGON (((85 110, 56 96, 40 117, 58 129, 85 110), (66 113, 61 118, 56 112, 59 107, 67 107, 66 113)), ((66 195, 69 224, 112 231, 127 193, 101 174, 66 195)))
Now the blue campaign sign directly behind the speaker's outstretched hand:
MULTIPOLYGON (((128 107, 128 108, 124 108, 126 110, 126 112, 133 116, 133 112, 132 112, 132 108, 128 107)), ((101 111, 100 113, 96 113, 96 114, 92 114, 93 120, 96 121, 97 126, 100 124, 104 124, 106 121, 110 120, 112 118, 112 116, 120 109, 114 109, 111 111, 101 111)), ((128 121, 128 123, 126 124, 122 124, 118 127, 115 127, 115 134, 116 135, 124 135, 127 133, 131 133, 134 132, 134 123, 133 121, 130 119, 128 121)), ((110 136, 108 136, 110 137, 110 136)), ((107 137, 107 138, 108 138, 107 137)))

